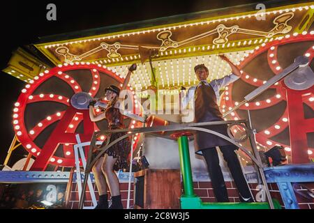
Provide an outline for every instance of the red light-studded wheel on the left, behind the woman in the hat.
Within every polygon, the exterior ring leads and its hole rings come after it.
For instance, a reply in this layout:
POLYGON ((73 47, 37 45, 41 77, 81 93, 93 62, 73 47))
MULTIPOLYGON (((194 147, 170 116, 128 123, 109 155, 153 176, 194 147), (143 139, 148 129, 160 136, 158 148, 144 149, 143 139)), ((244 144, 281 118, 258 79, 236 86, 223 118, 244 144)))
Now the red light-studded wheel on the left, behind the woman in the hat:
MULTIPOLYGON (((121 86, 123 82, 124 77, 110 68, 84 62, 64 63, 34 77, 22 89, 13 109, 17 139, 36 157, 31 170, 45 170, 47 164, 74 167, 75 134, 80 134, 81 141, 90 141, 94 131, 106 128, 107 121, 92 123, 88 109, 70 105, 71 96, 84 91, 92 98, 102 98, 105 87, 110 84, 121 86)), ((133 93, 133 112, 140 114, 135 92, 131 87, 128 90, 133 93)), ((98 112, 100 109, 96 109, 96 114, 98 112)), ((126 123, 129 123, 128 128, 142 126, 130 118, 126 118, 126 123)), ((98 138, 104 139, 105 136, 98 138)), ((139 139, 135 137, 133 149, 139 139)), ((88 147, 85 148, 86 154, 88 147)))

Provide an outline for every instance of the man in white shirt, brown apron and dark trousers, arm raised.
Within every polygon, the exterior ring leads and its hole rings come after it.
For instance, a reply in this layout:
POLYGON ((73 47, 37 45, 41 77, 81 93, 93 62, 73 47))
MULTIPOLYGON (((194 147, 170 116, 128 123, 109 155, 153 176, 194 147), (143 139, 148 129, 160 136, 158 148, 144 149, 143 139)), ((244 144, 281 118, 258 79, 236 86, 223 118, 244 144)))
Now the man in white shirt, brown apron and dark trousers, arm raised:
MULTIPOLYGON (((221 79, 214 79, 211 82, 207 82, 209 70, 204 64, 195 66, 194 70, 200 83, 197 86, 192 86, 188 89, 186 97, 183 100, 182 105, 185 107, 190 100, 194 98, 194 122, 202 123, 209 121, 224 121, 223 116, 220 113, 217 105, 219 100, 219 89, 230 84, 241 76, 241 72, 237 66, 235 66, 224 55, 219 55, 220 59, 226 61, 232 68, 232 73, 221 79)), ((207 129, 214 130, 227 136, 226 125, 214 125, 207 127, 207 129)), ((209 176, 211 177, 211 183, 214 188, 214 194, 218 202, 229 202, 227 188, 223 179, 223 173, 219 166, 218 153, 216 146, 219 146, 220 151, 223 153, 223 158, 227 162, 227 166, 230 169, 234 183, 237 185, 239 191, 239 199, 241 202, 253 202, 250 189, 244 178, 244 174, 239 163, 237 153, 235 151, 239 148, 231 144, 229 141, 217 137, 214 134, 207 132, 195 132, 195 153, 203 155, 207 162, 207 168, 209 176)))

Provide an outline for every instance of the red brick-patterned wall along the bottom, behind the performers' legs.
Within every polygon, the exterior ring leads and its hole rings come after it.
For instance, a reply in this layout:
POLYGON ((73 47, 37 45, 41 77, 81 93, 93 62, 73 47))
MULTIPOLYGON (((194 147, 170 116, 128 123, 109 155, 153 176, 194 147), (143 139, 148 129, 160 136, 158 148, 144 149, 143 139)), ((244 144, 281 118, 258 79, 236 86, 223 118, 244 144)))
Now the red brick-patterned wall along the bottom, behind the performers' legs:
MULTIPOLYGON (((96 199, 98 200, 98 191, 97 191, 96 185, 94 183, 93 185, 94 185, 96 199)), ((258 189, 256 189, 257 183, 249 183, 248 185, 251 188, 253 196, 255 197, 258 192, 258 189)), ((214 192, 211 186, 211 182, 193 182, 193 186, 194 186, 195 194, 197 194, 197 196, 199 196, 202 199, 202 201, 216 202, 214 192)), ((226 186, 227 186, 227 192, 229 195, 230 202, 239 202, 239 194, 238 194, 237 188, 234 185, 234 182, 227 181, 226 186)), ((126 202, 128 199, 128 183, 120 183, 120 190, 121 190, 122 203, 124 205, 124 208, 126 208, 126 202)), ((130 191, 130 207, 131 208, 133 207, 133 196, 134 196, 133 190, 134 190, 133 184, 131 184, 131 191, 130 191)), ((281 194, 278 190, 276 183, 270 183, 269 190, 271 192, 271 197, 273 197, 274 199, 277 199, 279 203, 281 203, 281 207, 284 208, 283 201, 281 199, 281 194)), ((305 189, 302 187, 299 187, 298 190, 305 190, 305 189)), ((108 192, 108 197, 110 198, 110 192, 108 192)), ((297 200, 299 202, 299 207, 301 209, 314 209, 313 199, 308 200, 308 199, 305 199, 304 197, 297 196, 297 200)), ((76 209, 78 208, 78 203, 79 203, 79 199, 78 199, 77 185, 76 183, 73 183, 72 191, 71 191, 70 199, 68 203, 68 208, 76 209)), ((84 206, 92 206, 89 190, 87 190, 86 199, 84 201, 84 206)))

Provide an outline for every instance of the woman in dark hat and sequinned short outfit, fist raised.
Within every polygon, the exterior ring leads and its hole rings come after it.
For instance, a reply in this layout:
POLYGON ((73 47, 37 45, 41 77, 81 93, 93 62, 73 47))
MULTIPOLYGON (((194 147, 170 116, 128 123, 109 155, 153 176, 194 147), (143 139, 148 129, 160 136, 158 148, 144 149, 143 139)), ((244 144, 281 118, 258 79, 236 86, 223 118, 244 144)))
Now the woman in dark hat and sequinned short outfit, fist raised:
MULTIPOLYGON (((124 80, 124 84, 121 91, 126 90, 128 82, 130 80, 131 73, 136 70, 136 64, 133 64, 128 68, 128 74, 124 80)), ((107 107, 103 113, 98 115, 94 112, 95 100, 89 103, 89 116, 91 121, 100 121, 103 118, 107 118, 108 129, 117 130, 124 128, 124 116, 119 111, 119 99, 120 89, 117 86, 110 85, 105 89, 105 97, 109 100, 107 107)), ((124 132, 112 133, 110 135, 110 142, 123 136, 124 132)), ((106 141, 101 146, 104 146, 106 141)), ((100 146, 100 147, 101 147, 100 146)), ((96 181, 96 186, 99 193, 99 201, 96 209, 107 209, 108 208, 108 196, 107 196, 107 185, 111 194, 111 205, 109 209, 123 209, 121 203, 121 195, 119 189, 119 179, 114 171, 124 169, 127 167, 127 158, 130 153, 130 139, 126 137, 117 144, 114 144, 105 151, 104 155, 97 160, 92 169, 96 181), (106 184, 107 182, 107 184, 106 184)))

